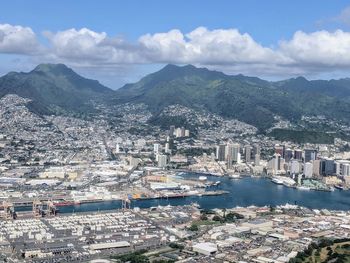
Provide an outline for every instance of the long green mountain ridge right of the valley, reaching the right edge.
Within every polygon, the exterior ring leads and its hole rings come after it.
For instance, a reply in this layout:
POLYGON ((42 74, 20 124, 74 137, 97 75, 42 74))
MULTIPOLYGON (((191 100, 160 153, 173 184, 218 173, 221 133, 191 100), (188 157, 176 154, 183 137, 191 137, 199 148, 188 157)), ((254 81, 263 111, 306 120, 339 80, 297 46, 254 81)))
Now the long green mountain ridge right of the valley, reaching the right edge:
POLYGON ((230 76, 191 65, 167 65, 117 90, 117 101, 145 103, 157 114, 169 105, 207 109, 266 130, 274 115, 292 122, 302 115, 350 121, 350 80, 308 81, 299 77, 269 82, 230 76), (321 88, 318 90, 317 87, 321 88))

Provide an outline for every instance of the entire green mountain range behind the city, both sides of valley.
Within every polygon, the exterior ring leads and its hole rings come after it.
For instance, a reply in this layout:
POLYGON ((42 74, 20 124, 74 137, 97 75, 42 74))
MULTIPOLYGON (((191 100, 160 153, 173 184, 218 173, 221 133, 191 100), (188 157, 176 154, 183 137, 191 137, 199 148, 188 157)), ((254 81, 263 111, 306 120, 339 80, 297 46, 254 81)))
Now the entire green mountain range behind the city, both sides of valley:
POLYGON ((244 75, 167 65, 118 90, 86 79, 63 64, 41 64, 28 73, 10 72, 0 78, 0 97, 30 98, 40 113, 93 112, 95 101, 144 103, 156 116, 179 104, 226 118, 270 128, 275 116, 297 122, 303 115, 323 115, 350 123, 350 79, 312 80, 303 77, 266 81, 244 75))

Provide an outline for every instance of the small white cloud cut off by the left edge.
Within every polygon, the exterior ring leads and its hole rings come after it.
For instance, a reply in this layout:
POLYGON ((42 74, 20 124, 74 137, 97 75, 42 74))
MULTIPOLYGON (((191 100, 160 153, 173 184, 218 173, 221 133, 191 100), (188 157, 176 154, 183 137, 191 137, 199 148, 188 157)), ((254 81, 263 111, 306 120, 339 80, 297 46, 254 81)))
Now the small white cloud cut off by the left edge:
POLYGON ((39 50, 39 42, 31 28, 0 24, 0 53, 29 55, 39 50))

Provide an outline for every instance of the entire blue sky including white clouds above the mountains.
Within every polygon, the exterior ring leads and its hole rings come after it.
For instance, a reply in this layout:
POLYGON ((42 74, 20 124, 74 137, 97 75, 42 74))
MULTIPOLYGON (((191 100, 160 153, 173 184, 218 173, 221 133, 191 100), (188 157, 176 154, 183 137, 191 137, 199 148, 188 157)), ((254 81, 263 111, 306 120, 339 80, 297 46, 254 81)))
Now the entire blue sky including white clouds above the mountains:
POLYGON ((0 75, 64 63, 113 89, 168 63, 350 77, 349 1, 4 0, 0 10, 0 75))

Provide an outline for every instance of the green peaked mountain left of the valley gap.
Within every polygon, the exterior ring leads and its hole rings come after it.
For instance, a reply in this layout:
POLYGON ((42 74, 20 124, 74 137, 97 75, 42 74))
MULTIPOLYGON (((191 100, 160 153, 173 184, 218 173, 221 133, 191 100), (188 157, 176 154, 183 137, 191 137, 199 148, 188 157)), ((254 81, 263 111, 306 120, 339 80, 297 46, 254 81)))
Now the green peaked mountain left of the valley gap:
POLYGON ((44 114, 88 112, 92 110, 90 100, 113 93, 64 64, 40 64, 28 73, 10 72, 0 78, 0 98, 6 94, 29 98, 31 110, 44 114))

